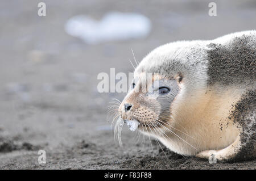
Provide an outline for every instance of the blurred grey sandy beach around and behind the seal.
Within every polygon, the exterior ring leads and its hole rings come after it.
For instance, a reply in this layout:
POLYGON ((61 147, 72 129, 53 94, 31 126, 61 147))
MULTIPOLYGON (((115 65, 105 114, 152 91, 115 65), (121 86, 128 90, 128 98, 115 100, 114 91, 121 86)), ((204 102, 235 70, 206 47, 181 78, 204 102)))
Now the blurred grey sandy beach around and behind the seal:
POLYGON ((118 146, 106 111, 125 94, 100 94, 98 73, 132 72, 131 48, 141 61, 171 41, 255 30, 256 1, 0 1, 0 22, 0 169, 139 168, 158 146, 127 129, 118 146))

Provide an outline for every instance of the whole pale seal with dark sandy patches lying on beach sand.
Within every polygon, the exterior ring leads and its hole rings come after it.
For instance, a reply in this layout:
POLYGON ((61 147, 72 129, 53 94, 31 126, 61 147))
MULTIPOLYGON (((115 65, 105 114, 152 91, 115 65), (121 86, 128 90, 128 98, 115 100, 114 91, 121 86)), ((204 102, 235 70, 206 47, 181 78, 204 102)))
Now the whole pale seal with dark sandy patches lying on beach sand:
POLYGON ((178 154, 254 159, 255 40, 256 31, 243 31, 152 50, 134 71, 116 125, 126 121, 178 154))

